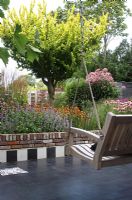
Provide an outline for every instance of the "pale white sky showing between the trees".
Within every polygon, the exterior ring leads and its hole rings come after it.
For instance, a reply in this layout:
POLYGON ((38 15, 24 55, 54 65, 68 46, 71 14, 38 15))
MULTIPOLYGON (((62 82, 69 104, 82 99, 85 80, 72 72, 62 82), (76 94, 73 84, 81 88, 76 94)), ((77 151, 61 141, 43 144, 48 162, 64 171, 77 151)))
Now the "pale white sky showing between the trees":
MULTIPOLYGON (((21 4, 26 5, 27 7, 29 7, 30 3, 32 0, 10 0, 10 9, 15 8, 18 9, 20 8, 21 4)), ((40 2, 42 0, 36 0, 36 2, 40 2)), ((47 11, 51 11, 51 10, 55 10, 58 6, 63 6, 63 0, 45 0, 47 3, 47 11)), ((127 6, 128 8, 130 8, 130 10, 132 11, 132 0, 127 0, 127 6)), ((129 38, 132 38, 132 17, 128 17, 126 19, 126 23, 127 23, 127 33, 129 34, 129 38)), ((115 38, 111 44, 109 45, 110 49, 114 49, 115 46, 117 46, 119 43, 121 42, 121 38, 115 38)), ((17 68, 17 63, 12 60, 11 58, 9 59, 9 63, 5 68, 5 65, 2 63, 2 61, 0 60, 0 70, 4 69, 5 73, 8 74, 8 76, 19 76, 21 74, 26 74, 27 71, 23 70, 20 71, 17 68)))

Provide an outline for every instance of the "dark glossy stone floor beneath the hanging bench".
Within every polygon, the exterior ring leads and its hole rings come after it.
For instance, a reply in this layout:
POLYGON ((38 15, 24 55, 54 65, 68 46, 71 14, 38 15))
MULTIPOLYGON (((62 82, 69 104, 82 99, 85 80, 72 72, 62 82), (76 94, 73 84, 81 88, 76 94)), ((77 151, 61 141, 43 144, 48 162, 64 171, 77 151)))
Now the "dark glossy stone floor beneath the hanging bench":
POLYGON ((28 174, 0 176, 0 200, 132 200, 132 164, 95 170, 77 158, 0 164, 28 174))

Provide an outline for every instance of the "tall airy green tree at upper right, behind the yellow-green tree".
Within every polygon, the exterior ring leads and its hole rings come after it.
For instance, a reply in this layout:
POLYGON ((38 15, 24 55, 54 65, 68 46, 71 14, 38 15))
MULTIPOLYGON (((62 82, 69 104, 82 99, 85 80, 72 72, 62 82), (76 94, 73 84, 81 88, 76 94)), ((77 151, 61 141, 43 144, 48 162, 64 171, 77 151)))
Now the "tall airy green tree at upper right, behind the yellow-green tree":
MULTIPOLYGON (((103 37, 103 63, 105 67, 106 61, 106 52, 110 41, 116 36, 126 36, 127 34, 124 31, 127 28, 125 23, 126 16, 131 16, 132 13, 130 9, 127 8, 127 0, 64 0, 65 9, 71 8, 73 5, 76 5, 77 11, 79 11, 80 2, 82 2, 83 15, 87 19, 97 18, 102 14, 108 13, 108 24, 107 31, 103 37), (76 4, 75 4, 76 3, 76 4)), ((64 10, 65 10, 64 9, 64 10)), ((65 12, 64 12, 65 13, 65 12)))

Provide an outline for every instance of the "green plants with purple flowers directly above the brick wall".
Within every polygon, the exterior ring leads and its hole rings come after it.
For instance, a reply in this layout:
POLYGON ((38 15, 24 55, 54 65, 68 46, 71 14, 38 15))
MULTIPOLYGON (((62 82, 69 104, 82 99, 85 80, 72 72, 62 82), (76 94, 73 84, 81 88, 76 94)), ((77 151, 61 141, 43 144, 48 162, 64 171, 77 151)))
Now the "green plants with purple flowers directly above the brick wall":
POLYGON ((33 108, 20 106, 4 109, 3 105, 0 102, 1 134, 64 131, 66 126, 66 121, 54 110, 37 112, 33 108))

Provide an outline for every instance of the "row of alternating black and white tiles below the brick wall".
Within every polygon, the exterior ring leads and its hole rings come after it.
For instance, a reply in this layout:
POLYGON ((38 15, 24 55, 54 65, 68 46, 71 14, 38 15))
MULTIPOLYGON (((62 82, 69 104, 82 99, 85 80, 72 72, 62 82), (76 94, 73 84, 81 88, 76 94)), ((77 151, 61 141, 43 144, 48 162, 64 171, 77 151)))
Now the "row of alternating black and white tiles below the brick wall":
POLYGON ((64 156, 64 146, 0 150, 0 163, 64 156))

